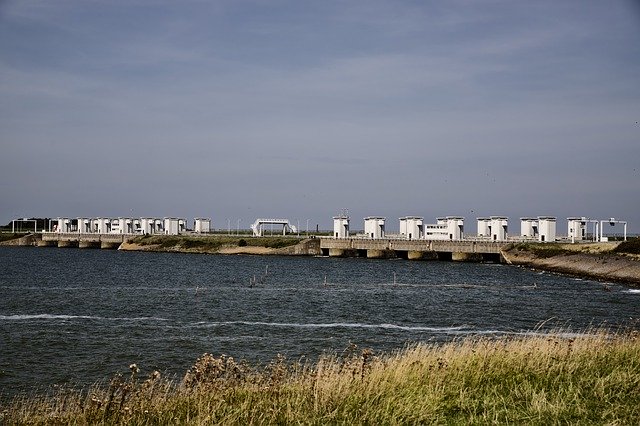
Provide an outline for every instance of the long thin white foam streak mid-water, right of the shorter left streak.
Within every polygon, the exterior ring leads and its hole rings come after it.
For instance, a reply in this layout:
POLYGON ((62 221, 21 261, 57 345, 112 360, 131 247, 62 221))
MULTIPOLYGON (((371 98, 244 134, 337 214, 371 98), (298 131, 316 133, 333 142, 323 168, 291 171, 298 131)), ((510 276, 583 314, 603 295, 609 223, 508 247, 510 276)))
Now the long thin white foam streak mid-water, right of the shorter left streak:
POLYGON ((285 323, 285 322, 262 322, 262 321, 221 321, 221 322, 198 322, 195 323, 196 327, 224 327, 229 325, 247 325, 247 326, 262 326, 262 327, 277 327, 277 328, 355 328, 355 329, 382 329, 382 330, 402 330, 402 331, 430 331, 430 332, 453 332, 462 331, 467 329, 465 326, 452 326, 452 327, 426 327, 426 326, 405 326, 397 324, 363 324, 363 323, 347 323, 347 322, 335 322, 335 323, 285 323))

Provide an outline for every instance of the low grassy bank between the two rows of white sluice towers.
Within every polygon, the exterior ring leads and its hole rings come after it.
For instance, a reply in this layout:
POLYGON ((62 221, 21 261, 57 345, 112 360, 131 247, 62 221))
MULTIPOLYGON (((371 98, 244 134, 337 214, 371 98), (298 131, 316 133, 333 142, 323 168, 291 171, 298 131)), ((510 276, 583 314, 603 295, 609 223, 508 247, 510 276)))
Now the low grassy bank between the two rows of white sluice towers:
POLYGON ((282 248, 296 245, 300 242, 295 237, 250 237, 207 235, 207 236, 172 236, 172 235, 145 235, 135 237, 131 243, 141 246, 157 245, 163 249, 172 247, 194 249, 202 251, 216 251, 222 247, 267 247, 282 248))

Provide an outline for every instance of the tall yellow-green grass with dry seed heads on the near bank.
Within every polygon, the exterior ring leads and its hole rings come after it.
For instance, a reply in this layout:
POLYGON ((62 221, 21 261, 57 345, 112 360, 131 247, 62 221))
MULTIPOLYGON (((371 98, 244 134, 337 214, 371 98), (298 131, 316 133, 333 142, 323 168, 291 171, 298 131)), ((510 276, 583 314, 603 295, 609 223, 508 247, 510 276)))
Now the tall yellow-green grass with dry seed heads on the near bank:
POLYGON ((23 398, 2 424, 638 424, 640 339, 465 339, 375 357, 254 369, 203 355, 180 383, 156 372, 23 398))

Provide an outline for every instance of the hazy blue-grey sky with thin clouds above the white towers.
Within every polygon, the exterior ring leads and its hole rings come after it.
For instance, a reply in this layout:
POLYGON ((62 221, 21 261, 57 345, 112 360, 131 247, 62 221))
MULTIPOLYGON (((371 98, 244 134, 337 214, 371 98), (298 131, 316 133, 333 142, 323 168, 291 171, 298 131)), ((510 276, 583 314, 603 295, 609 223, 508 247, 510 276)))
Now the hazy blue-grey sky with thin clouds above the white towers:
POLYGON ((0 223, 609 217, 640 2, 0 0, 0 223))

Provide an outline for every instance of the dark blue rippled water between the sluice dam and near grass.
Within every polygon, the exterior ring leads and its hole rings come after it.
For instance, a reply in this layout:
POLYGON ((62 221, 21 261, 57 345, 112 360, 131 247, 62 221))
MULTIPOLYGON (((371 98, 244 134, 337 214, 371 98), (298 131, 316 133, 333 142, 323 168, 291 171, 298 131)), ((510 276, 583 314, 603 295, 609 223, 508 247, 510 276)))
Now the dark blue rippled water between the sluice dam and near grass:
POLYGON ((0 247, 0 393, 85 386, 131 363, 181 376, 204 352, 266 363, 638 327, 640 292, 609 288, 493 264, 0 247))

